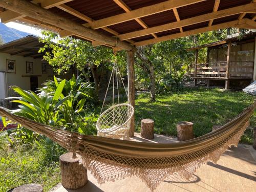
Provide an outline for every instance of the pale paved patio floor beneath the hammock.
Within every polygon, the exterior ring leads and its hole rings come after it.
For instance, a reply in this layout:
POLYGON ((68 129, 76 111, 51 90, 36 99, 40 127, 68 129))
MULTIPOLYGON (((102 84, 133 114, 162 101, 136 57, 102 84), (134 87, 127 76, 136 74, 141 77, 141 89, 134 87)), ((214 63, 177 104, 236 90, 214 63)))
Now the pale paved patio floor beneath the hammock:
MULTIPOLYGON (((134 137, 136 141, 147 140, 134 137)), ((170 143, 178 142, 174 138, 155 135, 149 142, 170 143)), ((126 178, 121 181, 108 182, 99 185, 96 179, 88 173, 89 182, 78 190, 65 189, 57 185, 53 192, 150 192, 150 189, 137 177, 126 178)), ((165 179, 155 191, 231 191, 256 192, 256 151, 251 145, 239 144, 229 148, 220 158, 218 164, 202 165, 189 181, 175 175, 165 179)))

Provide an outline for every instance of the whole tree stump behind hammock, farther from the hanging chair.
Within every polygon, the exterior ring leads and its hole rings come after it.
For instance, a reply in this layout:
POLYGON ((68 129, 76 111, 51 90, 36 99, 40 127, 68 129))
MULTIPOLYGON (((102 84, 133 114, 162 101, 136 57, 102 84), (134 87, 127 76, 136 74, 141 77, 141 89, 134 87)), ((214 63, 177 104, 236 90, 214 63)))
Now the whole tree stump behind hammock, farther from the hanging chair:
POLYGON ((177 124, 177 137, 179 141, 185 141, 194 138, 193 123, 181 121, 177 124))

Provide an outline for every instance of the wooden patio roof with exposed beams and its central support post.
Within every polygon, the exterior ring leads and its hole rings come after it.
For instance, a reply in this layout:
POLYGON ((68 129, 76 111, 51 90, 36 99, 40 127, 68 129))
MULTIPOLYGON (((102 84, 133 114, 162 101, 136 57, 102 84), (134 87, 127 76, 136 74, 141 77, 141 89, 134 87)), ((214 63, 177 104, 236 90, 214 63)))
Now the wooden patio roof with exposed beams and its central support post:
MULTIPOLYGON (((256 29, 255 0, 0 0, 2 23, 23 22, 127 51, 135 100, 137 46, 228 27, 256 29)), ((134 119, 131 125, 134 136, 134 119)))

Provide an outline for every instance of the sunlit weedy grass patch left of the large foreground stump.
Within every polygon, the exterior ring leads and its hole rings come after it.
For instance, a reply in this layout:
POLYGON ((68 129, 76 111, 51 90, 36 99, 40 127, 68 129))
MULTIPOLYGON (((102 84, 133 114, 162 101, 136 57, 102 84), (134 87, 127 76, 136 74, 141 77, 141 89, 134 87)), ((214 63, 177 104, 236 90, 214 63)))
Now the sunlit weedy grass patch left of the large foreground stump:
POLYGON ((0 150, 0 191, 28 183, 41 184, 49 191, 60 182, 58 158, 63 153, 57 144, 15 144, 0 150))

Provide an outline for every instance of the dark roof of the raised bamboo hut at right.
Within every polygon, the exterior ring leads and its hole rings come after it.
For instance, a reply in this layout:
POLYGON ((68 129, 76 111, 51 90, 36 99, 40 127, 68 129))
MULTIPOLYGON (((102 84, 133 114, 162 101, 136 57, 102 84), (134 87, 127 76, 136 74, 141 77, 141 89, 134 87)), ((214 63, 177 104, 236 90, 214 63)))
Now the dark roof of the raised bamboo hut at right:
POLYGON ((245 40, 251 39, 251 41, 254 41, 254 38, 256 37, 256 32, 250 32, 247 34, 244 34, 243 36, 235 36, 235 37, 229 37, 223 40, 211 42, 210 44, 205 44, 197 47, 192 47, 187 49, 187 51, 196 50, 196 49, 202 49, 202 48, 208 48, 208 47, 216 47, 216 46, 222 46, 227 44, 228 42, 243 42, 245 40))

